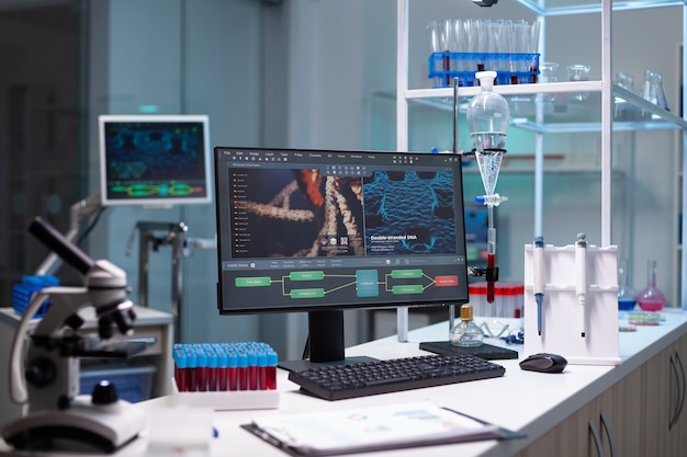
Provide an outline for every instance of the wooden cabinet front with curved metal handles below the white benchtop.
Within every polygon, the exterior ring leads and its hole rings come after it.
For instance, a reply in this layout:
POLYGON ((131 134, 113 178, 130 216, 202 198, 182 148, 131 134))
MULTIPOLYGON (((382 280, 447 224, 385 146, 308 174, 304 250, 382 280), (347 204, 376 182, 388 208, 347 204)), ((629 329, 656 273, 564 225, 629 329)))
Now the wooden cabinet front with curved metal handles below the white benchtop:
POLYGON ((682 336, 534 441, 518 457, 684 455, 686 356, 687 336, 682 336))

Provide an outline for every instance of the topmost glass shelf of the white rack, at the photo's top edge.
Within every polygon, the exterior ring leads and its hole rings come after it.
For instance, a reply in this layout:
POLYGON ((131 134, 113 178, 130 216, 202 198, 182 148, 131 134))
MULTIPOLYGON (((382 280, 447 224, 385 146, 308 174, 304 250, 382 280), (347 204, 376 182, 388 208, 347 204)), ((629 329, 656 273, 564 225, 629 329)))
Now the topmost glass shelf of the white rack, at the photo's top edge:
MULTIPOLYGON (((515 0, 542 16, 590 14, 601 12, 599 0, 515 0)), ((633 11, 662 7, 682 7, 685 0, 613 0, 612 11, 633 11)))

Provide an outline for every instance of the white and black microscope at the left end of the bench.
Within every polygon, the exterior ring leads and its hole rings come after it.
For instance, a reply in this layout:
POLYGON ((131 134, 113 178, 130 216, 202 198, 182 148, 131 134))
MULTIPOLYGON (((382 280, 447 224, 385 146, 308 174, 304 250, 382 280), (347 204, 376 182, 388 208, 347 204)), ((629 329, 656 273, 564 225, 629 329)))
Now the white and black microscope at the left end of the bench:
POLYGON ((91 395, 80 395, 83 357, 127 357, 143 345, 112 339, 114 328, 132 332, 136 318, 126 298, 126 273, 109 261, 93 261, 41 218, 29 231, 85 278, 82 287, 48 287, 29 304, 10 356, 10 396, 29 404, 27 413, 2 430, 15 449, 88 450, 113 453, 133 442, 147 424, 139 407, 119 399, 114 385, 98 382, 91 395), (29 324, 41 305, 50 299, 33 331, 29 324), (85 323, 79 310, 93 307, 98 336, 79 334, 85 323), (24 347, 27 345, 27 347, 24 347))

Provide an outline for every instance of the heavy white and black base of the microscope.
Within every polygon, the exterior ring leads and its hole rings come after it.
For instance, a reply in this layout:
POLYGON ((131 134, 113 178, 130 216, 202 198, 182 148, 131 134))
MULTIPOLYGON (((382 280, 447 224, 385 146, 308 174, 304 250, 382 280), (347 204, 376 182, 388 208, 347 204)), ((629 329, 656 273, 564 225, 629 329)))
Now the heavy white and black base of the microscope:
POLYGON ((90 396, 79 396, 71 408, 37 411, 11 422, 2 437, 15 449, 114 453, 134 441, 147 424, 135 404, 119 400, 93 405, 90 396))

